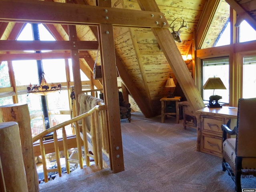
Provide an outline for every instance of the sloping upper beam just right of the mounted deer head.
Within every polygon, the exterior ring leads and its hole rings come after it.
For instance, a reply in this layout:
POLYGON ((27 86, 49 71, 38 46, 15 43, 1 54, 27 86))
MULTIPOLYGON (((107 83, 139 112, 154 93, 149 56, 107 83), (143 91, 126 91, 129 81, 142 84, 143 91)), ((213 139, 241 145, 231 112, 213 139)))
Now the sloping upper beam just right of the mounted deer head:
POLYGON ((201 49, 208 32, 212 26, 212 21, 220 6, 221 0, 209 0, 204 5, 204 10, 196 27, 196 49, 201 49))

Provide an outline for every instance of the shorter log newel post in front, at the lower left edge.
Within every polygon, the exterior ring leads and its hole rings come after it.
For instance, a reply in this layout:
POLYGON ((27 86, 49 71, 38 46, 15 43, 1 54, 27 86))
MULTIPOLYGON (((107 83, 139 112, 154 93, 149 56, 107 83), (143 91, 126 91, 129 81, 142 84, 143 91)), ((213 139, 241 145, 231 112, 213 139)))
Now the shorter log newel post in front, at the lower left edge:
POLYGON ((3 192, 28 192, 19 128, 16 122, 0 123, 0 157, 3 173, 0 184, 3 192))

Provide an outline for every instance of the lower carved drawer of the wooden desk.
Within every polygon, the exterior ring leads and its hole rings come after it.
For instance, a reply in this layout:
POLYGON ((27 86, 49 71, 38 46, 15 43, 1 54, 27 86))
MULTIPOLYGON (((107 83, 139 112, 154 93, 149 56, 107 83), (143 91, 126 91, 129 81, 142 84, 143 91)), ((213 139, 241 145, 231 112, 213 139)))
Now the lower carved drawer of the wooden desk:
POLYGON ((222 138, 202 134, 201 151, 222 157, 222 138))

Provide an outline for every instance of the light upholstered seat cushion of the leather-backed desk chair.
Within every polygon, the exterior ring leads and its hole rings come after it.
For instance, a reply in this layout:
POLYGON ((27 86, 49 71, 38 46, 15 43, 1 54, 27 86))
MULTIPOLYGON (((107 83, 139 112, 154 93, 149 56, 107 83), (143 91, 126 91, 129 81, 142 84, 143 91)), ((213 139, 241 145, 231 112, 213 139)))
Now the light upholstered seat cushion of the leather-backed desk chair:
POLYGON ((235 168, 236 162, 236 138, 226 139, 223 142, 223 157, 226 162, 231 166, 231 168, 235 168))

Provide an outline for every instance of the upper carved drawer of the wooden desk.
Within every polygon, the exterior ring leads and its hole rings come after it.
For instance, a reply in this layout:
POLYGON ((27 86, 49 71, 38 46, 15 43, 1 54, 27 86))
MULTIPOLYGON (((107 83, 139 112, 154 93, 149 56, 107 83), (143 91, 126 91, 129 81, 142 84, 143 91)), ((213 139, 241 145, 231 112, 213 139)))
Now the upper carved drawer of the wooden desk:
POLYGON ((221 125, 225 124, 225 118, 202 117, 202 131, 222 135, 221 125))

